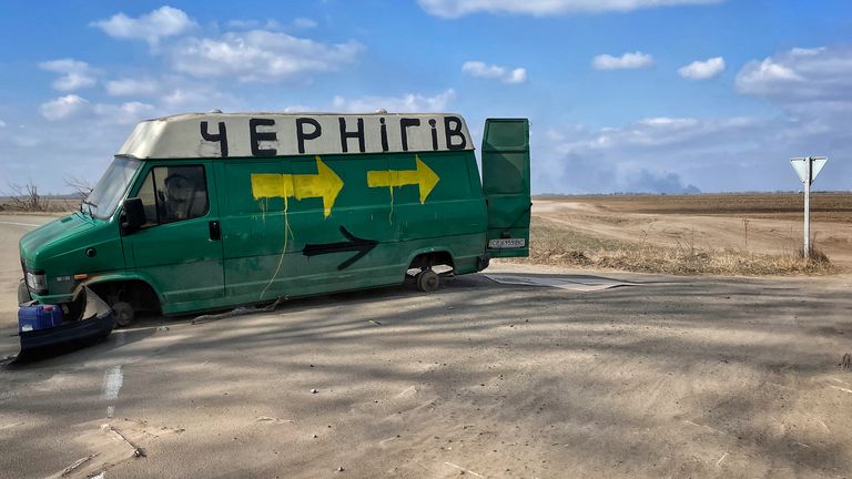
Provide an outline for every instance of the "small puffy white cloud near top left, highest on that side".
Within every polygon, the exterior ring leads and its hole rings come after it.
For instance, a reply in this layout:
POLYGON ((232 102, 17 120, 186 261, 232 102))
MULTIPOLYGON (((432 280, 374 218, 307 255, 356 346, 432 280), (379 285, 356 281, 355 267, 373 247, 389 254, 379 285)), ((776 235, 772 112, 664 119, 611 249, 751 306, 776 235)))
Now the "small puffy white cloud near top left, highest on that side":
POLYGON ((139 18, 118 13, 109 20, 92 22, 91 26, 100 28, 113 38, 145 40, 152 45, 158 44, 163 38, 180 35, 196 27, 183 10, 168 6, 139 18))

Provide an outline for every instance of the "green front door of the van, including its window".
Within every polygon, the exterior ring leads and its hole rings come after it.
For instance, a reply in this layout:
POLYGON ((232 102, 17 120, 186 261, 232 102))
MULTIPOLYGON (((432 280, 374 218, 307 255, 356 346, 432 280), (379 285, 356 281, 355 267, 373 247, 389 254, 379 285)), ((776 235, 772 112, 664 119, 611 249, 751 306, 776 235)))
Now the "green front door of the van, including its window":
POLYGON ((123 237, 128 268, 163 297, 163 313, 216 307, 224 268, 216 190, 210 162, 153 164, 134 196, 146 223, 123 237))

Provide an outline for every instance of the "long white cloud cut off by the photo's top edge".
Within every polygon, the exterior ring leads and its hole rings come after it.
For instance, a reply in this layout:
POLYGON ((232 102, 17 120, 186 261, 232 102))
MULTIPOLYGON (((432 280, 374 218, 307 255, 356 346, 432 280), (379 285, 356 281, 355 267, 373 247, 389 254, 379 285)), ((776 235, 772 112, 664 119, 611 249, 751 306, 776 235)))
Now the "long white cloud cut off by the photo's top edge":
POLYGON ((638 9, 721 3, 724 0, 418 0, 426 12, 444 18, 471 13, 548 17, 570 13, 627 12, 638 9))

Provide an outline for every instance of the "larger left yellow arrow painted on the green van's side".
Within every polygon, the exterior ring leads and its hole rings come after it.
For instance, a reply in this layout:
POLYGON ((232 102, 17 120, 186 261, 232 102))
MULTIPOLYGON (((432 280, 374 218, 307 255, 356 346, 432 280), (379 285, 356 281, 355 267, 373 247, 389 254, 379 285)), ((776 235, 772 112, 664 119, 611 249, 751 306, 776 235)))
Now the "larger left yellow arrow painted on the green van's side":
POLYGON ((252 173, 252 195, 255 200, 271 197, 322 197, 324 216, 332 214, 337 195, 343 190, 343 181, 332 169, 316 156, 316 174, 276 174, 252 173))

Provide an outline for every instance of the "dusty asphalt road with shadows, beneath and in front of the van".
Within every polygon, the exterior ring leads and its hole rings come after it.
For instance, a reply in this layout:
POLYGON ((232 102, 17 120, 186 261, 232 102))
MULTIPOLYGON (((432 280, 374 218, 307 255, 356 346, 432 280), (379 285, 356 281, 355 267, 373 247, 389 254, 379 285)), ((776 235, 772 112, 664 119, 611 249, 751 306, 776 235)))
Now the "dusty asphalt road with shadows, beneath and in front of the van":
MULTIPOLYGON (((39 221, 0 216, 0 358, 39 221)), ((852 475, 852 278, 601 276, 643 284, 470 275, 7 361, 0 477, 852 475)))

